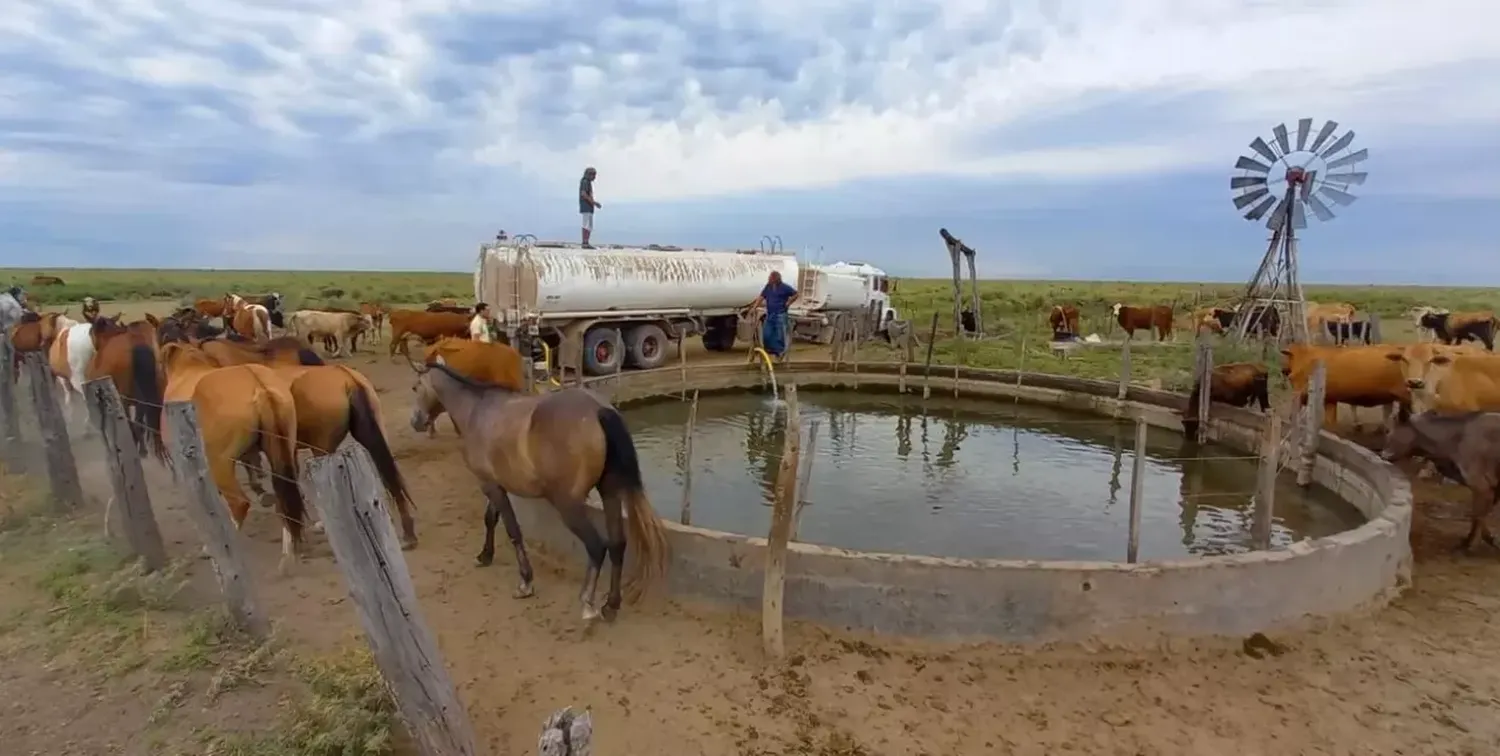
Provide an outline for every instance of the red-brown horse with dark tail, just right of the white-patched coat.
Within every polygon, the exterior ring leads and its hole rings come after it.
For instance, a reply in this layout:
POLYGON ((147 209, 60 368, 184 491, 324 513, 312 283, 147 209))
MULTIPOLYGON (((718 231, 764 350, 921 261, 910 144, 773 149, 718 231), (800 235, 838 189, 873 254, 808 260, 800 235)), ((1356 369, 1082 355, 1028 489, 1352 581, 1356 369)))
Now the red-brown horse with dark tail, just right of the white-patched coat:
POLYGON ((90 330, 93 358, 84 372, 87 381, 112 378, 120 392, 126 414, 132 414, 130 435, 135 446, 146 453, 147 442, 158 456, 165 456, 162 436, 162 374, 156 344, 156 326, 150 321, 135 321, 120 326, 118 321, 96 320, 90 330))

